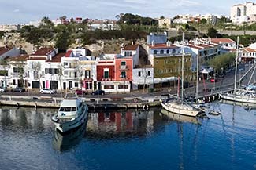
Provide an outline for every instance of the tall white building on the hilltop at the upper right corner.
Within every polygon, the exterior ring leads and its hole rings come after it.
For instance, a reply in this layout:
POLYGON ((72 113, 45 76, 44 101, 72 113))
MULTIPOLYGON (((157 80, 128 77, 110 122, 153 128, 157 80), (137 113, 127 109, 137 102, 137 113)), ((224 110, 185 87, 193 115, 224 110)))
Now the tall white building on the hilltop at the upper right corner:
POLYGON ((256 5, 254 2, 233 5, 230 9, 232 23, 243 24, 244 22, 256 21, 256 5))

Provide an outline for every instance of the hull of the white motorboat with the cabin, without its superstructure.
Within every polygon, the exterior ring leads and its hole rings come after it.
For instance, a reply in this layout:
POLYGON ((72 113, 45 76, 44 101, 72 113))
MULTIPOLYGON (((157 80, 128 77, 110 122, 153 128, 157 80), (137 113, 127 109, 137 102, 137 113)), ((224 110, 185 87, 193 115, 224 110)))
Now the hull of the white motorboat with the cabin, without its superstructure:
POLYGON ((68 132, 72 128, 76 128, 82 125, 83 122, 86 121, 87 119, 87 111, 88 111, 87 106, 84 106, 84 107, 86 108, 84 109, 83 113, 80 114, 77 118, 75 118, 72 121, 65 121, 65 122, 54 121, 54 118, 53 118, 55 128, 60 132, 64 133, 64 132, 68 132))

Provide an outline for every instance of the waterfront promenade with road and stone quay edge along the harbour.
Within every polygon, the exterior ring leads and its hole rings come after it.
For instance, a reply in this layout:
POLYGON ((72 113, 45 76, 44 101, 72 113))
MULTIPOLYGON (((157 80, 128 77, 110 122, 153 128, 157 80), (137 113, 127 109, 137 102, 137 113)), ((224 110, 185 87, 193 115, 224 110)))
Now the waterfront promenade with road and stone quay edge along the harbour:
MULTIPOLYGON (((239 66, 238 84, 247 85, 250 75, 253 72, 252 65, 241 64, 239 66)), ((254 75, 254 78, 256 76, 254 75)), ((254 81, 254 80, 252 80, 254 81)), ((207 80, 199 81, 198 96, 200 99, 208 99, 208 96, 217 96, 219 92, 230 91, 234 85, 234 69, 228 71, 224 78, 217 78, 216 82, 207 80)), ((126 93, 108 93, 104 96, 80 96, 84 102, 91 108, 142 108, 158 107, 161 96, 176 94, 176 87, 165 87, 154 89, 154 92, 145 92, 143 90, 126 93)), ((195 96, 195 85, 184 89, 185 96, 195 96)), ((41 94, 39 92, 4 92, 1 94, 1 105, 11 105, 17 107, 59 107, 63 94, 41 94)), ((216 99, 216 97, 215 97, 216 99)))

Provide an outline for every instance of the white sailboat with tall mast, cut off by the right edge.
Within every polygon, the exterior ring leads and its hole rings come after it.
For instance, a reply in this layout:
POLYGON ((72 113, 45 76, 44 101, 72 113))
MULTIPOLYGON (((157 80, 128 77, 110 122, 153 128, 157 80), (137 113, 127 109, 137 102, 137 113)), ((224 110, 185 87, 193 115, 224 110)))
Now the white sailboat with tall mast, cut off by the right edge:
POLYGON ((232 92, 220 93, 221 99, 227 99, 234 102, 241 103, 256 103, 256 92, 251 91, 250 89, 237 89, 236 88, 236 73, 237 73, 237 61, 238 61, 238 46, 239 46, 239 37, 237 38, 237 51, 236 51, 236 71, 235 71, 235 82, 234 90, 232 92))

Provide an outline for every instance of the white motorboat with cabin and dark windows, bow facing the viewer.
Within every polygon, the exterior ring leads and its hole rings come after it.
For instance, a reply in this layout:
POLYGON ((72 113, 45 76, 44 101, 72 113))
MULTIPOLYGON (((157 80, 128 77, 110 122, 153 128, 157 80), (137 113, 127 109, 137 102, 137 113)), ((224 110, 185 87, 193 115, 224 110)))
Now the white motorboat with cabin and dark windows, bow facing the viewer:
POLYGON ((51 119, 55 128, 60 132, 67 132, 83 124, 87 119, 88 107, 77 97, 65 97, 58 113, 51 119))

